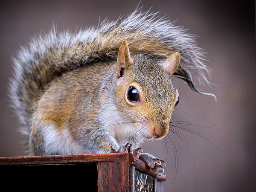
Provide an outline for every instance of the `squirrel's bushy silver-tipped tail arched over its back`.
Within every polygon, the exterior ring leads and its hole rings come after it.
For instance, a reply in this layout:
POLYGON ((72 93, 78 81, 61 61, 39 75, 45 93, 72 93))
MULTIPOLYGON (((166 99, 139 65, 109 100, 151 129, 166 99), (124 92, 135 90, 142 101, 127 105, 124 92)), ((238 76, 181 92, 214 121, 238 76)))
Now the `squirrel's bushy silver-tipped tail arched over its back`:
POLYGON ((54 27, 22 47, 13 58, 15 73, 10 84, 11 99, 21 121, 31 123, 38 98, 55 77, 87 63, 114 60, 123 40, 128 41, 131 54, 157 61, 179 52, 180 67, 174 75, 195 91, 192 76, 209 83, 204 51, 197 46, 195 36, 158 18, 157 13, 139 9, 124 19, 104 20, 95 28, 76 33, 57 32, 54 27))

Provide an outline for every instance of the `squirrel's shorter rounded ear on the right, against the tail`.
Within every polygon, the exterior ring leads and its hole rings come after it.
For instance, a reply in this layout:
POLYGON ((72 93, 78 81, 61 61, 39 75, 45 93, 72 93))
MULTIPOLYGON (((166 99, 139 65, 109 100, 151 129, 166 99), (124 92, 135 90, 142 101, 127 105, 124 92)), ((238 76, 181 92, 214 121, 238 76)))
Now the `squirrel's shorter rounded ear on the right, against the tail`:
POLYGON ((163 68, 172 76, 173 73, 177 70, 180 64, 180 54, 178 52, 173 53, 166 61, 163 63, 163 68))

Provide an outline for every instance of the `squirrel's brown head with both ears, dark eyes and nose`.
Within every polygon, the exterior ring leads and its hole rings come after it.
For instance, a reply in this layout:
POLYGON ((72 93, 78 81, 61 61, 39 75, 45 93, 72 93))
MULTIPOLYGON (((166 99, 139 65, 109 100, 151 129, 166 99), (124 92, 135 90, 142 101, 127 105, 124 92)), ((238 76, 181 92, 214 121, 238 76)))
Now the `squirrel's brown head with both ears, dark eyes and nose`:
POLYGON ((169 131, 172 111, 179 101, 171 76, 180 63, 180 55, 172 54, 157 64, 143 55, 131 57, 127 41, 119 48, 116 62, 116 108, 128 118, 136 133, 147 139, 160 139, 169 131))

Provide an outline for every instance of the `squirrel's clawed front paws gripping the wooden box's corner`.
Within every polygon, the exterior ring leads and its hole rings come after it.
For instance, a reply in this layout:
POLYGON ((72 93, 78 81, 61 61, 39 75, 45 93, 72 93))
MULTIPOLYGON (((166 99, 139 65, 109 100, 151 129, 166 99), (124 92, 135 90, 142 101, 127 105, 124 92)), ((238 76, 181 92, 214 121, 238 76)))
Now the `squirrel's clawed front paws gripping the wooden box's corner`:
POLYGON ((130 143, 120 145, 117 150, 114 148, 111 148, 111 153, 122 153, 122 152, 133 154, 135 157, 145 161, 149 167, 151 167, 156 171, 163 170, 162 164, 165 164, 165 162, 163 160, 160 160, 157 157, 154 157, 151 154, 143 153, 142 148, 134 149, 133 145, 130 143))

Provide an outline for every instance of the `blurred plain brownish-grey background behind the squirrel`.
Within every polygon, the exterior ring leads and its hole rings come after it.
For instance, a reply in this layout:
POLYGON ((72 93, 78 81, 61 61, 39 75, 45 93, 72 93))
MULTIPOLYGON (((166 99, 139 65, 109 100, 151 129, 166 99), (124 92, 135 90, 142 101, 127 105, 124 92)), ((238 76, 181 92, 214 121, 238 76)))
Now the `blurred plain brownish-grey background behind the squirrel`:
MULTIPOLYGON (((24 155, 20 124, 7 96, 12 54, 32 36, 48 32, 53 23, 58 29, 74 32, 96 26, 105 17, 116 20, 119 15, 133 12, 138 3, 1 1, 1 157, 24 155)), ((177 25, 200 37, 198 43, 208 52, 211 81, 216 84, 196 85, 214 93, 217 103, 177 82, 182 94, 173 120, 182 122, 176 124, 181 128, 196 132, 176 128, 179 137, 170 132, 175 147, 169 137, 143 145, 145 152, 166 161, 165 191, 255 191, 255 1, 142 0, 140 5, 144 11, 152 6, 152 11, 177 20, 177 25)))

